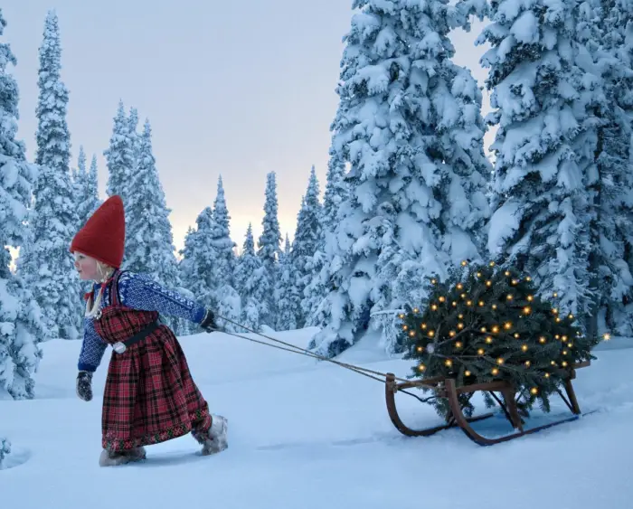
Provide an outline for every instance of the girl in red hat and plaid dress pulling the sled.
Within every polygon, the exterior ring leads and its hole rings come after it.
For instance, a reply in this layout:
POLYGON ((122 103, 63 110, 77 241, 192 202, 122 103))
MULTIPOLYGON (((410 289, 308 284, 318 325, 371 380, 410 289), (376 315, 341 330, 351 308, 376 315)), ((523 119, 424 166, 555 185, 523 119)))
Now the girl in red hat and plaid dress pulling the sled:
POLYGON ((192 432, 209 455, 227 448, 227 419, 209 413, 183 350, 159 314, 186 318, 207 332, 213 312, 145 276, 119 269, 125 215, 119 196, 92 214, 71 243, 80 278, 98 281, 86 294, 77 394, 92 399, 92 374, 108 345, 101 417, 101 467, 145 459, 144 446, 192 432))

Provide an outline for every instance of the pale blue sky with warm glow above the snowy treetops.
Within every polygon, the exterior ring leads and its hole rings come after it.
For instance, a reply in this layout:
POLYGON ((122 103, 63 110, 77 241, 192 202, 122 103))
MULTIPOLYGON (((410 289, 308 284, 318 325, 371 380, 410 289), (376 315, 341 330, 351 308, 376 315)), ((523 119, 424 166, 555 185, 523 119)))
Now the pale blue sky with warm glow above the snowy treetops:
MULTIPOLYGON (((266 174, 277 173, 281 234, 292 239, 311 165, 326 184, 329 127, 342 37, 352 0, 5 0, 9 42, 20 89, 18 137, 33 160, 38 48, 48 9, 61 31, 61 78, 70 90, 72 165, 80 145, 108 177, 118 100, 149 118, 156 167, 172 209, 177 249, 222 174, 239 248, 249 222, 261 232, 266 174)), ((459 65, 485 78, 474 46, 479 33, 458 31, 459 65)), ((482 82, 483 83, 483 82, 482 82)), ((487 94, 485 94, 487 104, 487 94)), ((488 139, 487 139, 488 141, 488 139)))

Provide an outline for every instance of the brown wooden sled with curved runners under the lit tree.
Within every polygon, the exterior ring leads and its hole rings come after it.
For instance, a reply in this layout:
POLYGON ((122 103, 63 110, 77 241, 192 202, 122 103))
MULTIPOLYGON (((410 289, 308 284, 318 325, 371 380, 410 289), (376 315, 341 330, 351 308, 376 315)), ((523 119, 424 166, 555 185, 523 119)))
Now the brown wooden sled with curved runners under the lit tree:
MULTIPOLYGON (((458 427, 466 434, 468 438, 473 440, 476 444, 480 446, 492 446, 494 444, 506 442, 514 438, 524 437, 525 435, 536 433, 537 431, 541 431, 543 429, 552 428, 553 426, 558 426, 565 422, 579 419, 583 414, 581 414, 581 409, 578 405, 576 394, 573 391, 572 380, 576 378, 576 370, 585 368, 589 365, 590 361, 576 363, 573 364, 570 368, 564 370, 562 373, 563 386, 567 395, 565 397, 565 395, 560 390, 558 391, 558 393, 561 396, 562 401, 564 401, 569 410, 572 411, 572 416, 556 419, 553 422, 547 422, 545 424, 534 426, 532 428, 527 428, 525 426, 524 420, 521 419, 515 401, 516 391, 514 387, 509 382, 504 381, 474 383, 472 385, 457 387, 455 380, 447 377, 435 377, 426 380, 411 382, 396 382, 395 375, 393 373, 386 373, 385 398, 387 401, 387 411, 389 412, 389 417, 390 419, 392 419, 392 423, 396 427, 396 429, 398 429, 403 435, 406 435, 407 437, 430 437, 430 435, 433 435, 443 429, 458 427), (450 410, 445 424, 436 426, 434 428, 411 429, 402 422, 402 419, 398 414, 398 410, 396 409, 395 394, 398 391, 405 391, 406 389, 416 387, 426 387, 428 389, 436 391, 436 395, 439 398, 446 398, 448 400, 450 410), (468 418, 464 415, 461 407, 459 406, 458 396, 459 394, 470 394, 476 391, 488 392, 494 398, 494 400, 498 403, 500 409, 502 410, 505 419, 512 426, 512 432, 496 438, 487 438, 478 433, 477 430, 473 428, 473 423, 485 419, 490 419, 496 416, 496 412, 489 412, 483 415, 468 418), (496 395, 496 392, 501 394, 501 398, 496 395)), ((589 413, 593 412, 587 412, 587 414, 584 415, 588 415, 589 413)))

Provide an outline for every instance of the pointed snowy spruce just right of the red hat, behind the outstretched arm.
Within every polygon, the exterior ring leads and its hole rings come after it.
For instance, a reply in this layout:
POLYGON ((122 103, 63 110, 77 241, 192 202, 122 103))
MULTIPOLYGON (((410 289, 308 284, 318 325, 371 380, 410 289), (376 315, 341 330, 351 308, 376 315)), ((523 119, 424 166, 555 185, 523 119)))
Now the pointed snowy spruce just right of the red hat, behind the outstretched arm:
MULTIPOLYGON (((143 273, 165 287, 180 287, 175 259, 174 236, 165 203, 165 193, 156 170, 149 120, 138 141, 138 160, 129 189, 126 215, 126 259, 123 269, 143 273)), ((177 320, 165 317, 175 329, 177 320)), ((179 330, 175 331, 177 334, 179 330)))

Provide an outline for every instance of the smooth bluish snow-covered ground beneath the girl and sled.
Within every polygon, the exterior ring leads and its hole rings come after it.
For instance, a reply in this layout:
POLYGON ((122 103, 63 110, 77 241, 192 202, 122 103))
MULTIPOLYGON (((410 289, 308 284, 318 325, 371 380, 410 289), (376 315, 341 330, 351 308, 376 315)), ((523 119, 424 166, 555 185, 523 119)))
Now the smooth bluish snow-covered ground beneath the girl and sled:
MULTIPOLYGON (((274 335, 305 346, 314 332, 274 335)), ((334 364, 217 333, 181 342, 212 411, 229 419, 226 451, 201 457, 187 436, 147 448, 143 464, 100 468, 109 353, 95 375, 95 399, 86 403, 74 387, 80 342, 52 341, 43 345, 36 399, 0 401, 0 434, 13 444, 0 471, 0 506, 633 507, 632 340, 614 338, 578 373, 582 410, 599 412, 490 448, 458 430, 403 437, 387 415, 383 384, 334 364)), ((371 336, 340 359, 400 376, 410 367, 388 358, 371 336)), ((412 427, 439 422, 406 395, 398 403, 412 427)))

